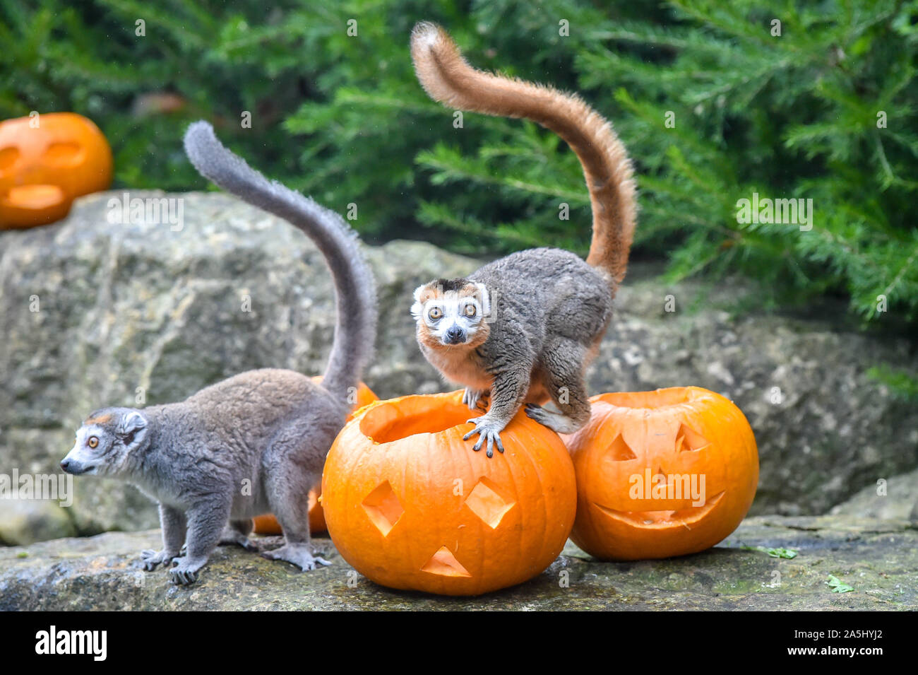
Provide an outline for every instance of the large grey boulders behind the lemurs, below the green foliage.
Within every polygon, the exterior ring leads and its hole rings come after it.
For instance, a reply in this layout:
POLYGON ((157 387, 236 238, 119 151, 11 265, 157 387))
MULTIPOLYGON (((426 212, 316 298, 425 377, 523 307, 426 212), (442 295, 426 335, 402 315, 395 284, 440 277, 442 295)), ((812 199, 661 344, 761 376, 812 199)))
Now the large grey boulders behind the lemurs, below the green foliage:
MULTIPOLYGON (((61 223, 0 233, 0 473, 55 472, 84 415, 101 406, 184 399, 250 368, 315 374, 324 366, 330 280, 298 231, 231 197, 199 193, 166 196, 184 200, 181 231, 111 224, 113 195, 121 193, 84 197, 61 223)), ((414 342, 410 292, 480 262, 421 242, 367 255, 382 307, 367 383, 384 398, 447 388, 414 342)), ((634 265, 621 288, 590 388, 694 384, 733 399, 759 444, 754 512, 826 512, 918 467, 918 415, 866 375, 882 363, 918 371, 907 341, 853 332, 840 319, 736 318, 729 308, 754 291, 667 287, 652 272, 634 265), (670 299, 675 311, 666 311, 670 299)), ((133 488, 93 478, 74 485, 66 517, 49 515, 58 507, 47 502, 0 500, 0 538, 156 524, 133 488), (42 513, 42 529, 22 526, 42 513)))

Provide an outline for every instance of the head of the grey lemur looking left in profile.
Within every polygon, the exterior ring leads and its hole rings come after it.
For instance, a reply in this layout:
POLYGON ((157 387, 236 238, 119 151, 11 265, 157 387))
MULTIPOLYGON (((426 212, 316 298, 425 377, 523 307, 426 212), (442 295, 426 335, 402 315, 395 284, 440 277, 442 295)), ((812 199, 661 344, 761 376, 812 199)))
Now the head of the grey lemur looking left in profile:
POLYGON ((147 435, 147 419, 140 411, 106 409, 91 414, 76 431, 76 443, 62 459, 61 468, 80 476, 117 476, 131 450, 147 435))

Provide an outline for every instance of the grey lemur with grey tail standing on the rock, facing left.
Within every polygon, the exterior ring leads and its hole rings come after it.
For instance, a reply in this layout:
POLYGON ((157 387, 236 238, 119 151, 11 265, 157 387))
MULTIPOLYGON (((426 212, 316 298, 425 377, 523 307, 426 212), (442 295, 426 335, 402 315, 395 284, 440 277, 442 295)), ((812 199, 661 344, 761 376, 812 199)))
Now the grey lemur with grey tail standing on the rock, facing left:
POLYGON ((195 581, 218 543, 252 547, 251 519, 266 512, 280 522, 285 544, 265 557, 304 570, 328 565, 309 544, 308 492, 373 351, 373 274, 338 214, 252 170, 220 144, 209 124, 191 125, 185 152, 201 174, 293 223, 325 256, 338 317, 322 383, 267 368, 230 377, 181 403, 104 408, 77 431, 61 466, 76 475, 123 478, 159 501, 163 548, 141 557, 147 569, 173 564, 175 583, 195 581))

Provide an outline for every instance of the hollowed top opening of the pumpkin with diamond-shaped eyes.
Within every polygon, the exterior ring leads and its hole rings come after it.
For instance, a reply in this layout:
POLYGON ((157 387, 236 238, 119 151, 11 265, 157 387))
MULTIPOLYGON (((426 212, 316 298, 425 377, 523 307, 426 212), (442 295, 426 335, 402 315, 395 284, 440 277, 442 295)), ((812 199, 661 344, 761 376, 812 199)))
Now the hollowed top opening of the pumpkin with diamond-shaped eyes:
POLYGON ((475 417, 464 403, 436 396, 407 396, 377 405, 364 415, 360 431, 377 444, 392 443, 418 433, 440 433, 475 417))

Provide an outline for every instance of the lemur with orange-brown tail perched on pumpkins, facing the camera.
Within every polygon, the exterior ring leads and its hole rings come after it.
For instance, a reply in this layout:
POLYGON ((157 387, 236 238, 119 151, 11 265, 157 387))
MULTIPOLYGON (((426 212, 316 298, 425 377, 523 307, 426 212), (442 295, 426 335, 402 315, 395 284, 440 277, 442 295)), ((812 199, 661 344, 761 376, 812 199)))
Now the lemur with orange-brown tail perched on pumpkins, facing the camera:
POLYGON ((411 33, 420 84, 450 107, 527 118, 557 133, 577 153, 593 208, 587 261, 540 248, 512 253, 468 278, 438 279, 414 292, 420 350, 444 377, 465 385, 480 434, 503 452, 500 432, 525 402, 526 413, 558 433, 589 419, 584 367, 609 326, 624 278, 636 215, 631 162, 610 123, 579 97, 472 68, 449 35, 430 23, 411 33), (558 411, 541 404, 554 401, 558 411))

